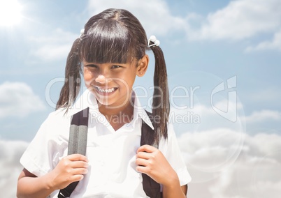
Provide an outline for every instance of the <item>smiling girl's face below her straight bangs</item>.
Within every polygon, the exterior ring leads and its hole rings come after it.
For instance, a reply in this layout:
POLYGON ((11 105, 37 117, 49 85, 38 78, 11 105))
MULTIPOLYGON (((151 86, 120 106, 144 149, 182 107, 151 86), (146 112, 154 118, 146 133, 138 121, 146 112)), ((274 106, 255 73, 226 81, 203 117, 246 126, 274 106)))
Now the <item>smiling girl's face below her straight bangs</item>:
POLYGON ((120 108, 127 105, 139 75, 138 61, 132 63, 88 63, 83 61, 84 80, 100 105, 120 108))

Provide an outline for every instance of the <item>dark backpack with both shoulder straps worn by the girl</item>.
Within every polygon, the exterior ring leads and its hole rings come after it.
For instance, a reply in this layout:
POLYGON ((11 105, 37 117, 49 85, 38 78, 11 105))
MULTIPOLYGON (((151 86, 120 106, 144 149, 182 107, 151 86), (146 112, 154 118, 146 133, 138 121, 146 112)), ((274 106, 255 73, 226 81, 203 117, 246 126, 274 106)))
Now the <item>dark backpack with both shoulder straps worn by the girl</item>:
MULTIPOLYGON (((151 116, 152 114, 150 112, 147 112, 147 115, 151 116)), ((82 155, 86 154, 88 116, 89 107, 73 115, 69 130, 68 155, 74 153, 80 153, 82 155)), ((151 121, 153 121, 153 119, 151 121)), ((153 140, 154 130, 152 130, 152 128, 150 128, 150 126, 143 121, 141 126, 141 146, 144 144, 152 145, 153 140)), ((158 148, 158 145, 153 144, 153 146, 158 148)), ((150 176, 147 176, 147 174, 142 174, 142 176, 143 190, 145 191, 145 194, 151 198, 161 198, 162 194, 160 192, 159 183, 150 178, 150 176)), ((66 188, 59 190, 58 198, 70 197, 76 185, 78 185, 78 182, 79 181, 73 182, 66 188)))

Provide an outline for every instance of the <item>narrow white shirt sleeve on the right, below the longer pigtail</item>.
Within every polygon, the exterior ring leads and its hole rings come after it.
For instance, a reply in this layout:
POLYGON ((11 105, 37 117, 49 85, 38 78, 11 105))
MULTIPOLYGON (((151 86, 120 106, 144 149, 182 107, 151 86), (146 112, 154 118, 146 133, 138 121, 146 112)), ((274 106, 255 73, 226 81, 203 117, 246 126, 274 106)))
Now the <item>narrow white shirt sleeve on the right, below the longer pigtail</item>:
POLYGON ((178 139, 175 136, 175 131, 171 123, 168 125, 168 139, 162 139, 159 144, 159 150, 164 154, 166 160, 168 160, 170 165, 178 174, 180 185, 189 183, 192 178, 187 170, 185 161, 182 158, 180 147, 178 146, 178 139))

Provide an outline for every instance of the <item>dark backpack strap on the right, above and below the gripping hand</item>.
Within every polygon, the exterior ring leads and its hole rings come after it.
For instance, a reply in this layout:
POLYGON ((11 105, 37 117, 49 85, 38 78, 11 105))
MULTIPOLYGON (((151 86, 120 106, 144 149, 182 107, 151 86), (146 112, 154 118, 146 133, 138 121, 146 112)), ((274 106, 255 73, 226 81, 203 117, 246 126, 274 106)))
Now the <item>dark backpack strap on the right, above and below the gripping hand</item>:
MULTIPOLYGON (((153 124, 153 118, 152 114, 150 112, 147 112, 147 115, 150 117, 150 121, 153 124)), ((142 122, 141 125, 141 146, 144 144, 152 145, 155 148, 158 148, 158 144, 153 144, 154 142, 154 130, 150 128, 145 121, 142 122)), ((147 176, 147 174, 142 174, 143 176, 143 190, 145 191, 145 194, 148 197, 152 198, 160 198, 161 192, 160 192, 160 184, 154 181, 150 176, 147 176)))

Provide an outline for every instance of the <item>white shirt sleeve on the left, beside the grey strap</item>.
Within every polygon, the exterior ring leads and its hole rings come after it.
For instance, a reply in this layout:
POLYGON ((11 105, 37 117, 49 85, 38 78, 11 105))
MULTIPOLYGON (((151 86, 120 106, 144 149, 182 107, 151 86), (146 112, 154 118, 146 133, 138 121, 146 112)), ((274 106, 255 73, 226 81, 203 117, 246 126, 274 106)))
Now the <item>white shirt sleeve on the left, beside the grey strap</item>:
POLYGON ((20 158, 25 169, 36 176, 43 176, 57 166, 67 152, 68 122, 55 112, 48 116, 20 158))

